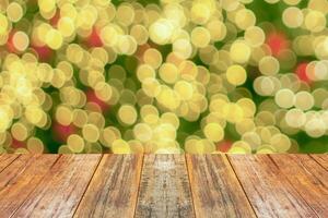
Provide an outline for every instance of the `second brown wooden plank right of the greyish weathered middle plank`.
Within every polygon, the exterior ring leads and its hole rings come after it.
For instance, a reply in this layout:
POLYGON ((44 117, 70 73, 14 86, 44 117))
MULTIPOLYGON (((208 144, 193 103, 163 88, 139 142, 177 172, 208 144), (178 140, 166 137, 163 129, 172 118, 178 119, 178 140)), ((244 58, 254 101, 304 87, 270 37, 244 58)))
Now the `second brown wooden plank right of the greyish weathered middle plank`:
POLYGON ((229 158, 259 217, 317 217, 268 155, 229 158))

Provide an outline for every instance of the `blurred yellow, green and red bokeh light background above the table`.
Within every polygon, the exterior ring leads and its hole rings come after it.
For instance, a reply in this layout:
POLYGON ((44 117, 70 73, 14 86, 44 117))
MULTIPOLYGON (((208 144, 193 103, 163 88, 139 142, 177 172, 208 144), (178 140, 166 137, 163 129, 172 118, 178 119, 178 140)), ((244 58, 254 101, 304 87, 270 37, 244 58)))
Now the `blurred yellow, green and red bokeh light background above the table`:
POLYGON ((327 0, 1 0, 0 153, 327 153, 327 0))

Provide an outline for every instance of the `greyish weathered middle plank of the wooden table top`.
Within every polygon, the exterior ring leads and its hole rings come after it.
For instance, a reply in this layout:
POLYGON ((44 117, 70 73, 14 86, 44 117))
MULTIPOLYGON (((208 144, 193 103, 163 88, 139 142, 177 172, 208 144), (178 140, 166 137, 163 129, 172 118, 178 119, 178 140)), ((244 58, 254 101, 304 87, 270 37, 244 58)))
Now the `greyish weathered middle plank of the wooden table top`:
POLYGON ((136 217, 195 217, 185 156, 144 156, 136 217))

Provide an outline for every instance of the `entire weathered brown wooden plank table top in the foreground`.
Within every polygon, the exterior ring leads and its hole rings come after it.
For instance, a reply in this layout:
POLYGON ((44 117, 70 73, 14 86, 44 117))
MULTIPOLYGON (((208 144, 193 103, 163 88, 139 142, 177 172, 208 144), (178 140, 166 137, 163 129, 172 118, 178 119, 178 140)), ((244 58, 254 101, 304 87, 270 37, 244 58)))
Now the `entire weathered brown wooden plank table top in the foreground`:
POLYGON ((0 217, 328 217, 328 155, 0 155, 0 217))

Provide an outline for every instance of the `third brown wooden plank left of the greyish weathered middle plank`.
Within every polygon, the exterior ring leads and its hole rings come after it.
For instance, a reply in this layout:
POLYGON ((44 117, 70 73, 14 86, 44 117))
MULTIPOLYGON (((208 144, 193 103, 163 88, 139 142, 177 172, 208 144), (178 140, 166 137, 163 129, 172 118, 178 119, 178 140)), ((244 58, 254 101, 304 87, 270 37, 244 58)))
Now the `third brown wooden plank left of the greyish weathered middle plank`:
POLYGON ((13 215, 58 157, 55 155, 22 155, 0 173, 0 217, 13 215))

